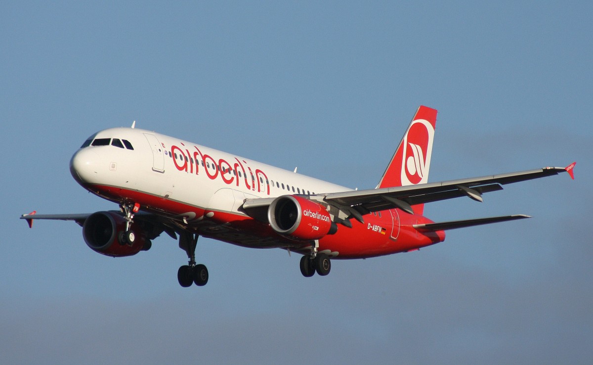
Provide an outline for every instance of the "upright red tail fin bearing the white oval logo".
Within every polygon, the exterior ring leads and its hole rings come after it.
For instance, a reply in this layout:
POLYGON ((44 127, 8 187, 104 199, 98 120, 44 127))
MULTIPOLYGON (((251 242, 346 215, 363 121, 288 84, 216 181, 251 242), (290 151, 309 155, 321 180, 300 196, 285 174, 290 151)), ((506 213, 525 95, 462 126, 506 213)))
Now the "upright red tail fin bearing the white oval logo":
MULTIPOLYGON (((436 109, 420 106, 401 139, 377 188, 416 185, 428 182, 432 141, 435 136, 436 109)), ((422 214, 422 204, 412 207, 422 214)))

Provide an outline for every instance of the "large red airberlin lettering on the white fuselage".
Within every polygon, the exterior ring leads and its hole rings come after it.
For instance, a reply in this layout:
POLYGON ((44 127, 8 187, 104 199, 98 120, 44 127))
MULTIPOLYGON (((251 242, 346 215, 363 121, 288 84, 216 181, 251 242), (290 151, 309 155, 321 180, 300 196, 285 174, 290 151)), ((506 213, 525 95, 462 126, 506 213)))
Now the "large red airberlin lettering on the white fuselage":
MULTIPOLYGON (((241 161, 235 157, 235 161, 229 163, 223 158, 216 160, 215 157, 212 157, 209 154, 203 154, 196 146, 193 146, 192 151, 186 148, 183 143, 181 143, 181 146, 182 147, 176 145, 171 146, 171 155, 173 155, 173 163, 177 170, 195 173, 197 175, 200 170, 199 161, 202 161, 201 167, 203 167, 203 170, 209 179, 215 180, 220 177, 220 179, 227 185, 235 184, 236 186, 240 186, 241 184, 244 184, 245 187, 251 191, 263 192, 270 195, 270 185, 266 174, 260 169, 256 169, 255 172, 253 172, 251 167, 247 166, 245 160, 241 163, 241 161), (176 158, 177 155, 181 157, 181 161, 176 158), (245 169, 246 167, 247 170, 245 169)), ((166 148, 164 144, 162 147, 166 148)))

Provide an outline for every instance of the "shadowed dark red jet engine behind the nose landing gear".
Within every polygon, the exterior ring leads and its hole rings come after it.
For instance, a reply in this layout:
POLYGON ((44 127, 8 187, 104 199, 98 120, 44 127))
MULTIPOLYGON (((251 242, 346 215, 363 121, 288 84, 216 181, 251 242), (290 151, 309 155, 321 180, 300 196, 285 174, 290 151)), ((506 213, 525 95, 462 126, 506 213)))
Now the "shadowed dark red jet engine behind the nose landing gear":
POLYGON ((151 242, 142 231, 131 227, 135 234, 134 242, 122 242, 121 233, 126 230, 126 220, 114 212, 96 212, 85 220, 82 236, 88 247, 95 252, 112 257, 132 256, 141 250, 148 250, 151 242))

